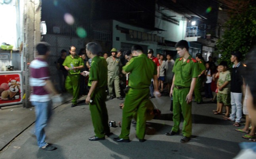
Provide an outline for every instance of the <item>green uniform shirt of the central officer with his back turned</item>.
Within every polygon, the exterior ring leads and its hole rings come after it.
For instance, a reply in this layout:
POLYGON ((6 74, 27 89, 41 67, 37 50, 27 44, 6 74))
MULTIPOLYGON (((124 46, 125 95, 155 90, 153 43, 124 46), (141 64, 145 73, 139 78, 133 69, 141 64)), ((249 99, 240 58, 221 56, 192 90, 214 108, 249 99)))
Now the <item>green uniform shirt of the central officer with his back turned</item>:
POLYGON ((131 73, 128 85, 134 89, 148 88, 153 75, 157 75, 156 64, 146 54, 131 58, 123 70, 131 73))

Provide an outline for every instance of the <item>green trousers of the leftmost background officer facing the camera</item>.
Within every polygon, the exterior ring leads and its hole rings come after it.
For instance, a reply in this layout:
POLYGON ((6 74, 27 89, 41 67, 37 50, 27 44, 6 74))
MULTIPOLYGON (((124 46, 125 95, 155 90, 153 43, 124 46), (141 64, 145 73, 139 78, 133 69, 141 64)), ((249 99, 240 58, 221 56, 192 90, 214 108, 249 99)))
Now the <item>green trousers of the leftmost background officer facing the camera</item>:
POLYGON ((73 104, 77 104, 77 98, 79 96, 79 78, 80 74, 68 75, 65 81, 66 90, 73 94, 73 100, 71 101, 73 104))

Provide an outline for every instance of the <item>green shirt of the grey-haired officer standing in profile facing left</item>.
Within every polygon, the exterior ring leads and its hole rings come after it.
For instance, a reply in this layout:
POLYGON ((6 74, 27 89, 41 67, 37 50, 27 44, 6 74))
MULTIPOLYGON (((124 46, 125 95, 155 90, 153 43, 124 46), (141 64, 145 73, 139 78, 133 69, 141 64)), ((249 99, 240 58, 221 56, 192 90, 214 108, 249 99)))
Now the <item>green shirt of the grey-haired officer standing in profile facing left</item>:
POLYGON ((104 57, 95 56, 90 66, 88 86, 92 86, 92 81, 98 81, 96 88, 102 88, 108 84, 108 67, 104 57))

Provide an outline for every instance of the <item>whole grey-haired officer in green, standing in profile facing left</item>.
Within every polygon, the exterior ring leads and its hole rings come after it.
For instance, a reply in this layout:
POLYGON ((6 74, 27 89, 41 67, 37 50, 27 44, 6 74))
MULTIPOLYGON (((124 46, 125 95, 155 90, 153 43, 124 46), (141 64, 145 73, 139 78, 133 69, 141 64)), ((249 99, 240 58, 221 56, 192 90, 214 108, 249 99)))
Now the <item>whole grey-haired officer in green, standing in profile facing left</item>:
POLYGON ((90 42, 86 45, 86 54, 92 58, 90 67, 89 93, 85 102, 90 106, 92 124, 95 135, 90 137, 90 141, 105 140, 105 135, 109 136, 110 128, 108 126, 108 111, 106 108, 106 86, 108 78, 107 62, 104 57, 98 56, 101 51, 100 45, 90 42))

